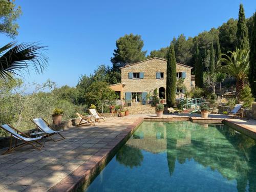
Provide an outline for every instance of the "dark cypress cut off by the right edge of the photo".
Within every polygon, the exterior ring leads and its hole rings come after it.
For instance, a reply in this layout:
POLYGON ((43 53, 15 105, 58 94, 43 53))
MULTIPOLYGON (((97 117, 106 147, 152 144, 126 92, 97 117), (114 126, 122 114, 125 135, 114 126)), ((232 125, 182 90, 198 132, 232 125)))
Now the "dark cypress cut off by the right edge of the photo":
POLYGON ((256 98, 256 12, 253 17, 253 28, 251 33, 251 45, 250 45, 250 70, 249 70, 249 82, 251 87, 251 93, 256 98))

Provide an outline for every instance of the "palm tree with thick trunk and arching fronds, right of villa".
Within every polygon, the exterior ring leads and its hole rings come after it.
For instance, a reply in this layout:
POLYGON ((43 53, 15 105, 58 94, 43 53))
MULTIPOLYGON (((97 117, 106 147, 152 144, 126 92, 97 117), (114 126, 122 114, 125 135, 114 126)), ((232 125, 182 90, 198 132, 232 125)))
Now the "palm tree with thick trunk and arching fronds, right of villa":
POLYGON ((236 95, 239 97, 241 90, 244 88, 244 79, 248 77, 249 51, 237 49, 236 51, 228 51, 228 54, 230 56, 221 54, 220 62, 224 65, 220 67, 220 70, 236 78, 236 95))

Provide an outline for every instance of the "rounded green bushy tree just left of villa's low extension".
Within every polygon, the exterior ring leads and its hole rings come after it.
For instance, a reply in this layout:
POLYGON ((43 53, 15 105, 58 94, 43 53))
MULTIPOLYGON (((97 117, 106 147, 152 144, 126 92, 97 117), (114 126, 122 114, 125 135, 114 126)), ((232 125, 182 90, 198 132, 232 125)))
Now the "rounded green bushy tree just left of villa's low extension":
POLYGON ((117 95, 115 91, 111 90, 107 82, 95 81, 88 88, 85 94, 86 104, 94 103, 97 110, 106 108, 116 102, 117 95))

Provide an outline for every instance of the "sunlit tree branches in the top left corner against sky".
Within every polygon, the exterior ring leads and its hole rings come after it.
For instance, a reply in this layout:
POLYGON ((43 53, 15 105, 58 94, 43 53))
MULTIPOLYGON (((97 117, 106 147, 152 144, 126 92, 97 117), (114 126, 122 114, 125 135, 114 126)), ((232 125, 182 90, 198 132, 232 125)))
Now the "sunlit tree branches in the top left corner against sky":
POLYGON ((16 7, 14 0, 0 0, 0 32, 14 37, 18 34, 16 19, 22 14, 20 6, 16 7))

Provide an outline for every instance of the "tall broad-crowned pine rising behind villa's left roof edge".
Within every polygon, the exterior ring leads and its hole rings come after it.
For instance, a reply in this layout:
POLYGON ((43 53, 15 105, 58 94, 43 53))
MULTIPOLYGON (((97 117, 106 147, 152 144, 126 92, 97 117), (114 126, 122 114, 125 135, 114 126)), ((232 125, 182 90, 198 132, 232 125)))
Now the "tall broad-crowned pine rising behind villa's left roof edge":
POLYGON ((116 48, 114 50, 114 57, 111 58, 113 63, 113 70, 118 71, 125 63, 135 63, 145 59, 146 51, 142 51, 144 46, 140 35, 124 35, 116 41, 116 48))

